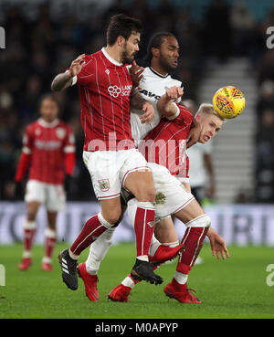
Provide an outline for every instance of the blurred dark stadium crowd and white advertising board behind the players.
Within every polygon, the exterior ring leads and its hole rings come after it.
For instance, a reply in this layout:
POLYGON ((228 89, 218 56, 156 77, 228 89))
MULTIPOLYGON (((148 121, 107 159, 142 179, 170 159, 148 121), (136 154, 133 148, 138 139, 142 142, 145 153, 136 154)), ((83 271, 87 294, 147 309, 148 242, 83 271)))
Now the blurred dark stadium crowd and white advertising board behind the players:
MULTIPOLYGON (((227 243, 274 246, 274 48, 267 47, 267 28, 274 26, 271 0, 0 0, 5 29, 5 48, 0 49, 0 244, 21 239, 26 206, 16 195, 14 177, 26 124, 38 117, 37 101, 73 58, 104 46, 105 25, 117 13, 142 20, 138 58, 154 32, 174 33, 181 47, 177 74, 184 99, 211 101, 224 85, 244 92, 245 111, 228 121, 213 142, 216 197, 205 207, 227 243)), ((58 218, 58 238, 70 241, 99 205, 81 159, 78 90, 58 93, 58 100, 60 118, 77 140, 69 206, 58 218)), ((43 212, 37 243, 46 226, 43 212)), ((125 219, 115 240, 132 239, 125 219)))

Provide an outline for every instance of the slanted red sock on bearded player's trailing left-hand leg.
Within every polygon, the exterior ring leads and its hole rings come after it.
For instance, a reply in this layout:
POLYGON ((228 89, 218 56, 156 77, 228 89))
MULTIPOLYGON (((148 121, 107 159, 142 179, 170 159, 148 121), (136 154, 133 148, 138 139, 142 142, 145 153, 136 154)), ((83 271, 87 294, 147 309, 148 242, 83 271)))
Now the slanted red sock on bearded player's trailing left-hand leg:
POLYGON ((72 246, 70 247, 71 253, 79 257, 80 253, 90 246, 92 242, 94 242, 97 237, 108 228, 111 227, 109 224, 99 213, 98 215, 91 216, 90 219, 83 226, 79 237, 74 241, 72 246))

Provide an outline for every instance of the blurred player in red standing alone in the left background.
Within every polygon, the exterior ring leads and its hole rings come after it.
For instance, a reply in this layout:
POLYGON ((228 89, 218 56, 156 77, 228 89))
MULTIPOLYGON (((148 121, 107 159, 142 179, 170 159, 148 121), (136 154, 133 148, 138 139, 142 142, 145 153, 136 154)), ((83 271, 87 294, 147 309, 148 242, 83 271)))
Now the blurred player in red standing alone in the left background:
POLYGON ((47 208, 45 232, 45 256, 43 270, 52 270, 51 257, 56 242, 58 211, 66 202, 65 175, 73 173, 75 166, 74 134, 64 121, 58 120, 58 102, 51 94, 40 100, 41 117, 26 127, 23 149, 16 171, 16 183, 20 184, 26 170, 26 221, 24 224, 24 253, 20 270, 29 269, 31 247, 37 228, 37 211, 41 204, 47 208))

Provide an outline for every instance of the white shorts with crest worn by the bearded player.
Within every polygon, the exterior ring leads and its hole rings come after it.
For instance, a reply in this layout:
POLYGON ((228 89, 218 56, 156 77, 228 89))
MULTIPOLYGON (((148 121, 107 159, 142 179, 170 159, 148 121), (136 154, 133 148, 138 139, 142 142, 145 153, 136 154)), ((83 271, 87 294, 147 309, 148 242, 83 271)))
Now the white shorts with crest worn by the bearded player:
POLYGON ((148 170, 145 158, 137 149, 84 151, 83 161, 90 172, 93 190, 98 200, 119 196, 128 174, 148 170))

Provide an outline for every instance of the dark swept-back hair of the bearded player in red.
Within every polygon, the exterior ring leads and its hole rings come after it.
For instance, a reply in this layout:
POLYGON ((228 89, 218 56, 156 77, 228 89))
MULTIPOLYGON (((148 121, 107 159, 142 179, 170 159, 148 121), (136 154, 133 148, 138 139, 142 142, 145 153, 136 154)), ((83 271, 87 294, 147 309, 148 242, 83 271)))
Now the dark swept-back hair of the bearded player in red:
POLYGON ((132 32, 142 33, 140 20, 123 14, 111 16, 111 21, 107 28, 107 44, 113 46, 119 36, 127 40, 132 35, 132 32))

